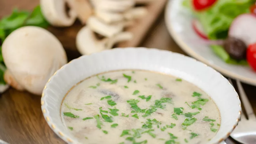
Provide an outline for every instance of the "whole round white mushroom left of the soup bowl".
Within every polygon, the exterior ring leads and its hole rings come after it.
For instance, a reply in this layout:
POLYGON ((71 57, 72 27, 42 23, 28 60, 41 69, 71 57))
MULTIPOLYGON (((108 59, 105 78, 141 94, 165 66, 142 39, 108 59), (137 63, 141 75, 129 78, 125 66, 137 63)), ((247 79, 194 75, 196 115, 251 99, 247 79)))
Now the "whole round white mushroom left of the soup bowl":
POLYGON ((40 95, 56 70, 67 63, 66 52, 49 31, 26 26, 13 31, 2 44, 7 70, 4 80, 18 90, 40 95))

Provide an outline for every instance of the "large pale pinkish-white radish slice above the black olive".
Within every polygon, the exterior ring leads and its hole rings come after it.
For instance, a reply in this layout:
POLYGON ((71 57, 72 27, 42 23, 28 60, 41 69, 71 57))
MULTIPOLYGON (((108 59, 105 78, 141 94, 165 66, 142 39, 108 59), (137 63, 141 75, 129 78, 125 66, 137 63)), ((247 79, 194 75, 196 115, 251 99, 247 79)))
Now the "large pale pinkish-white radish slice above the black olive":
POLYGON ((253 14, 239 15, 233 20, 228 35, 241 39, 247 46, 256 43, 256 16, 253 14))

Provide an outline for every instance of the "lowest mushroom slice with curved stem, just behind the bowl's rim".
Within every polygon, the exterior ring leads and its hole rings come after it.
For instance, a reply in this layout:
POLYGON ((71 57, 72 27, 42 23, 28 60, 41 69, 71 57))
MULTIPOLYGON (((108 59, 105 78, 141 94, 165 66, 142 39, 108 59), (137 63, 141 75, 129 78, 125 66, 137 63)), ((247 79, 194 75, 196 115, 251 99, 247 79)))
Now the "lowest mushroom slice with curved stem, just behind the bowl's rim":
POLYGON ((115 43, 130 40, 131 38, 131 33, 122 32, 114 35, 112 38, 103 38, 99 40, 89 27, 84 26, 76 35, 76 47, 82 55, 89 55, 105 49, 110 49, 115 43))

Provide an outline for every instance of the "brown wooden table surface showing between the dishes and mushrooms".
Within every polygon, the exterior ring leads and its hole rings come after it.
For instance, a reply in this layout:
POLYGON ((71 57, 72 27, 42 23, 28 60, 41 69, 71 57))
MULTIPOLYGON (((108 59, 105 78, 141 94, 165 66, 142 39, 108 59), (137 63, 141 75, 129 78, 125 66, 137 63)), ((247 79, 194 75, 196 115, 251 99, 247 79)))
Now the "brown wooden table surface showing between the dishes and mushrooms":
MULTIPOLYGON (((0 18, 10 14, 13 8, 32 10, 38 3, 39 0, 0 0, 0 18)), ((74 37, 80 28, 79 23, 70 28, 49 28, 65 47, 69 60, 80 56, 75 48, 74 37), (64 34, 65 37, 63 37, 64 34)), ((170 37, 163 13, 140 46, 185 54, 170 37)), ((243 84, 243 87, 256 113, 256 87, 247 84, 243 84)), ((65 144, 46 124, 40 99, 40 96, 13 88, 2 93, 0 95, 0 139, 10 144, 65 144)), ((230 140, 228 143, 231 143, 230 140)))

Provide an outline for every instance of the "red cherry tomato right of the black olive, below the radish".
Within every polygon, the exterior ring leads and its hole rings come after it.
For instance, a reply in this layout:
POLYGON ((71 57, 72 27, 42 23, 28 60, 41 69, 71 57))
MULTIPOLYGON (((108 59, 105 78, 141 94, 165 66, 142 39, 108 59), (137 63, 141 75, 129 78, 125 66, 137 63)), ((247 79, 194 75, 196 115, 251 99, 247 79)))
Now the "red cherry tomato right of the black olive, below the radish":
POLYGON ((248 46, 246 59, 252 69, 256 71, 256 43, 248 46))

